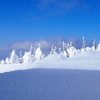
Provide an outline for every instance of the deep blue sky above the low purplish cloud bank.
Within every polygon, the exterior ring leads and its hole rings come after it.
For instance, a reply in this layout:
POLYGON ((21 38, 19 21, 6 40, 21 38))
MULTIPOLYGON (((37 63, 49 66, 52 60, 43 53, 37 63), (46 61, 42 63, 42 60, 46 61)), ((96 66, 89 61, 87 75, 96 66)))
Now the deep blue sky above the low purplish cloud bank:
POLYGON ((99 0, 0 0, 0 48, 99 34, 99 0))

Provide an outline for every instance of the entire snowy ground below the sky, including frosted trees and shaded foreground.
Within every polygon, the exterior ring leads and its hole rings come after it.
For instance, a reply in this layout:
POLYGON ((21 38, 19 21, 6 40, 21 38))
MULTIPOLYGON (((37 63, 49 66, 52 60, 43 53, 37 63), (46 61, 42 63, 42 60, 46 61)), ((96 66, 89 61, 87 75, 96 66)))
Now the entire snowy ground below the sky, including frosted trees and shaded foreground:
POLYGON ((0 62, 0 100, 100 100, 100 44, 76 49, 63 42, 46 56, 31 46, 0 62), (6 73, 7 72, 7 73, 6 73))

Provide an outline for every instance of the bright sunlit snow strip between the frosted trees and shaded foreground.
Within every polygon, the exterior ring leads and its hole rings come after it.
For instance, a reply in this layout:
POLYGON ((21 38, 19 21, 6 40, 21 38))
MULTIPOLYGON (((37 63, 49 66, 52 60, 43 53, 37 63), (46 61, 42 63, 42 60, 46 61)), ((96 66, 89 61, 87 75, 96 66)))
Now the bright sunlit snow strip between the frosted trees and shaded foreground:
POLYGON ((32 68, 100 70, 100 50, 84 51, 71 58, 66 57, 66 55, 54 53, 34 62, 0 64, 0 73, 32 68))

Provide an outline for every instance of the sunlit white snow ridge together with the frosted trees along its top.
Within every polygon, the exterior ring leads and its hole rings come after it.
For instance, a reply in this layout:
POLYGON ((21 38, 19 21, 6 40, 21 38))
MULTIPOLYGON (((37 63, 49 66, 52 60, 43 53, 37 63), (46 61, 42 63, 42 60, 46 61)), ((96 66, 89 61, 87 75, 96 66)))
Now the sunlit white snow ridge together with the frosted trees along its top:
POLYGON ((83 38, 81 49, 76 49, 72 42, 63 41, 61 48, 52 46, 48 55, 41 48, 40 44, 37 48, 31 45, 29 51, 23 55, 20 51, 20 56, 13 50, 10 57, 0 61, 0 73, 30 68, 100 70, 100 43, 96 45, 95 40, 92 47, 86 47, 83 38))

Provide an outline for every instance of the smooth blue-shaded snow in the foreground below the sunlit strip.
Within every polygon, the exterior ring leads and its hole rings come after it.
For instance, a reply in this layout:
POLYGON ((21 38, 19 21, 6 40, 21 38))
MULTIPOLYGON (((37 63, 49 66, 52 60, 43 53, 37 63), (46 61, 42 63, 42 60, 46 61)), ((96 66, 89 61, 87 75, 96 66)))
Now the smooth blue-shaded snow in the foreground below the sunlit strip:
POLYGON ((100 71, 31 69, 1 73, 0 100, 100 100, 100 71))

